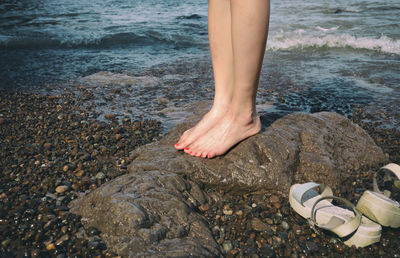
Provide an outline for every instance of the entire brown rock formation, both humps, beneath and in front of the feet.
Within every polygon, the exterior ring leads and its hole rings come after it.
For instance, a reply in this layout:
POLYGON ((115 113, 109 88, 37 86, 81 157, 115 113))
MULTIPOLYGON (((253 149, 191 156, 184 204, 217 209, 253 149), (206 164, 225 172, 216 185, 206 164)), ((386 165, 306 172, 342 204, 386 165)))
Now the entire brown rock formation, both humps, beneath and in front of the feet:
POLYGON ((174 149, 188 127, 179 125, 161 141, 137 148, 130 174, 72 202, 72 211, 87 227, 98 228, 117 254, 221 256, 196 212, 218 198, 207 196, 199 185, 287 192, 294 182, 316 181, 335 188, 347 171, 386 161, 364 130, 335 113, 288 115, 211 160, 174 149))

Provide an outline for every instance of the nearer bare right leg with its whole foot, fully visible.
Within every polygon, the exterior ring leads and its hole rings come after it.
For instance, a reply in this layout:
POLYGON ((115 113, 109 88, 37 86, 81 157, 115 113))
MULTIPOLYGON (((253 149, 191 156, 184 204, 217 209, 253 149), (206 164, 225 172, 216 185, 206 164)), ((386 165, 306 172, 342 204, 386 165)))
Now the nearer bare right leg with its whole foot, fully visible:
POLYGON ((231 0, 234 91, 228 112, 188 146, 193 156, 222 155, 261 129, 255 99, 269 25, 268 0, 231 0))

